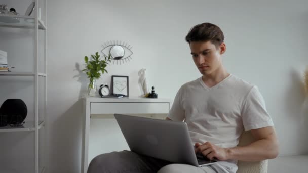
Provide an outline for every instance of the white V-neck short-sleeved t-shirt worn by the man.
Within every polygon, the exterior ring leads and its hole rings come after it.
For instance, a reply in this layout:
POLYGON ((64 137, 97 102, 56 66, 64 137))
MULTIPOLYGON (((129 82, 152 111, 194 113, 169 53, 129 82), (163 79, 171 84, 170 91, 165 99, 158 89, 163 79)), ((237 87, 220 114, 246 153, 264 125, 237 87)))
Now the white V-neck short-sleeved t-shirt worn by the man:
MULTIPOLYGON (((211 88, 202 77, 182 85, 168 118, 187 123, 193 145, 222 148, 237 146, 243 130, 273 126, 257 86, 232 74, 211 88)), ((237 169, 237 161, 228 162, 237 169)))

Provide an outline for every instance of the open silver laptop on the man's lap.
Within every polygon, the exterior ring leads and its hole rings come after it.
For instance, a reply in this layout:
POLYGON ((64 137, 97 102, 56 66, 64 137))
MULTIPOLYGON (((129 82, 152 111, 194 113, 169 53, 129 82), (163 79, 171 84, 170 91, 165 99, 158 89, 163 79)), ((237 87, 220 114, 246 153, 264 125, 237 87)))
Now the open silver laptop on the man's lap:
POLYGON ((196 155, 185 122, 114 114, 131 151, 173 163, 206 166, 209 160, 196 155))

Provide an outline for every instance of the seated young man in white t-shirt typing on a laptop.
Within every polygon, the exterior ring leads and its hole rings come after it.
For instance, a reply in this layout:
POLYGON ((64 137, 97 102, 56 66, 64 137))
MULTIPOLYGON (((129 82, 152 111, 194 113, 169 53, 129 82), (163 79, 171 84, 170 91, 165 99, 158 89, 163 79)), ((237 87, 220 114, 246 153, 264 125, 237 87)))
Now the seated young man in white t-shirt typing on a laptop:
POLYGON ((167 116, 168 120, 185 121, 196 152, 220 160, 218 163, 206 167, 170 164, 123 151, 97 156, 91 161, 88 173, 236 172, 237 160, 275 158, 278 141, 264 100, 255 85, 225 70, 223 40, 220 28, 211 23, 196 25, 189 31, 186 41, 202 77, 181 86, 167 116), (237 147, 243 130, 251 130, 256 142, 237 147))

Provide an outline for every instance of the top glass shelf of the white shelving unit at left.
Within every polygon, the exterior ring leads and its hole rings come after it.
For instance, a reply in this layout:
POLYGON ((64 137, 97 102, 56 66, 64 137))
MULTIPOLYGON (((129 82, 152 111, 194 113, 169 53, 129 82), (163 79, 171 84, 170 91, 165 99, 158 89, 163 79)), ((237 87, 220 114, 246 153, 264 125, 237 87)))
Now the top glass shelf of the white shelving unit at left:
MULTIPOLYGON (((0 27, 33 29, 34 25, 35 18, 33 16, 0 14, 0 27)), ((41 20, 38 20, 38 25, 39 29, 47 29, 41 20)))

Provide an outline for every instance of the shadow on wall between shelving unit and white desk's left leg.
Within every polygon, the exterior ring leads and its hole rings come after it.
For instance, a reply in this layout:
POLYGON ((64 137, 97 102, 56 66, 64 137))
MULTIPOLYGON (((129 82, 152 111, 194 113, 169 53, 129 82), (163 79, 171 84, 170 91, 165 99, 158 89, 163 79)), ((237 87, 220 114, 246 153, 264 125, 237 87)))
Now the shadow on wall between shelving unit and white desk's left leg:
POLYGON ((50 144, 53 144, 50 158, 56 163, 49 163, 49 172, 80 172, 82 112, 83 101, 80 99, 51 124, 54 130, 50 139, 50 144))

